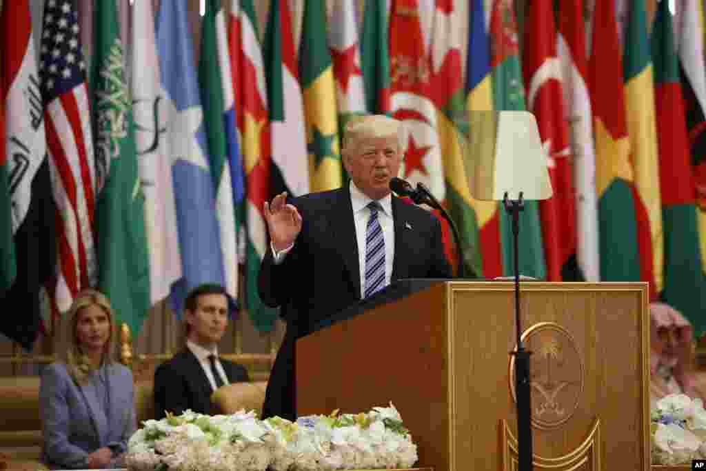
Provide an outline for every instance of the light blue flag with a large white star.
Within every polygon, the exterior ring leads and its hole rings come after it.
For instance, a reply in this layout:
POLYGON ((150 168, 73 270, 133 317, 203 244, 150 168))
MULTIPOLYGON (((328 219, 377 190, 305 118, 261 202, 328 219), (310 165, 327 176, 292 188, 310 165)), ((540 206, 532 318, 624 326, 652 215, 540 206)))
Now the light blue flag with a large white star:
POLYGON ((155 27, 165 96, 160 113, 165 115, 167 155, 172 157, 183 273, 169 296, 177 316, 193 287, 224 284, 215 191, 185 8, 183 1, 160 2, 155 27))

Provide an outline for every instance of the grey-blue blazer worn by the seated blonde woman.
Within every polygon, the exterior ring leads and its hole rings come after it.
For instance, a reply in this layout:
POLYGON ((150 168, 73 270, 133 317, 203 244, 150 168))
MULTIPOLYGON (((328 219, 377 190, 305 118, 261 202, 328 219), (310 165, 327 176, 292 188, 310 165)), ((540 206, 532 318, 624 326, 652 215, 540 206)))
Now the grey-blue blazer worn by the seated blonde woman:
POLYGON ((44 463, 84 468, 89 453, 107 446, 115 462, 111 467, 120 467, 120 455, 136 429, 132 373, 118 363, 103 365, 78 384, 66 364, 52 363, 42 372, 40 412, 44 463))

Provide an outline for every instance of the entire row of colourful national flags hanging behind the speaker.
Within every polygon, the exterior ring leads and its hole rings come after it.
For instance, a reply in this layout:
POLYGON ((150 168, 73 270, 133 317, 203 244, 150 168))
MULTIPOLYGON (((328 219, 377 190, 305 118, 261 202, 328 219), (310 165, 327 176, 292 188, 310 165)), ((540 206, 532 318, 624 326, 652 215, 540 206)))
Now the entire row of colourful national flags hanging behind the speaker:
POLYGON ((532 111, 548 156, 554 197, 520 215, 520 272, 645 280, 706 328, 698 0, 681 2, 677 29, 660 2, 651 36, 644 0, 630 2, 623 45, 614 2, 595 2, 590 50, 582 0, 533 0, 522 56, 513 1, 486 13, 471 0, 462 17, 457 1, 366 0, 358 20, 355 2, 329 15, 306 0, 297 50, 289 1, 270 0, 261 43, 252 0, 207 0, 198 64, 186 1, 157 11, 136 1, 128 47, 102 1, 90 75, 70 0, 46 0, 39 52, 28 0, 4 3, 0 293, 28 307, 0 329, 25 347, 86 286, 134 333, 150 306, 169 298, 179 312, 205 281, 241 294, 256 328, 272 328, 276 311, 256 290, 263 202, 345 184, 340 134, 360 113, 405 121, 400 176, 446 205, 467 270, 512 274, 508 215, 474 200, 465 177, 467 111, 488 109, 532 111))

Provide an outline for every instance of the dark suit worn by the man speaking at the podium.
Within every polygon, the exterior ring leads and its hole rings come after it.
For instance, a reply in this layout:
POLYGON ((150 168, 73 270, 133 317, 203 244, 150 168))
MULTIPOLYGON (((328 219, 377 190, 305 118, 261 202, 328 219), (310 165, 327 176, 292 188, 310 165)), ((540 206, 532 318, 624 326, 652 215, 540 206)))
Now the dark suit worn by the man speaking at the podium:
MULTIPOLYGON (((268 306, 282 306, 287 333, 268 382, 263 417, 296 418, 294 342, 323 318, 359 302, 358 244, 349 187, 291 201, 302 217, 294 248, 275 265, 268 249, 258 291, 268 306)), ((428 211, 393 196, 395 258, 391 282, 449 278, 441 223, 428 211)))

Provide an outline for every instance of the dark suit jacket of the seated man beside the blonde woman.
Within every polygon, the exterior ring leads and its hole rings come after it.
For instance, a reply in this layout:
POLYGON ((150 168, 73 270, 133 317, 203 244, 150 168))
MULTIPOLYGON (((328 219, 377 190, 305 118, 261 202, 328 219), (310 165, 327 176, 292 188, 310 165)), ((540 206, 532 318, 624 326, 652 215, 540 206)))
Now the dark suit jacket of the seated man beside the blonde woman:
MULTIPOLYGON (((249 381, 248 371, 237 363, 219 358, 228 381, 249 381)), ((155 415, 157 420, 165 417, 165 411, 180 415, 187 409, 199 414, 213 414, 211 394, 213 390, 189 348, 184 348, 155 371, 155 415)))

